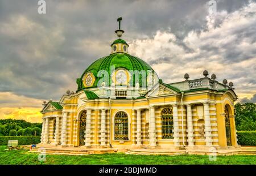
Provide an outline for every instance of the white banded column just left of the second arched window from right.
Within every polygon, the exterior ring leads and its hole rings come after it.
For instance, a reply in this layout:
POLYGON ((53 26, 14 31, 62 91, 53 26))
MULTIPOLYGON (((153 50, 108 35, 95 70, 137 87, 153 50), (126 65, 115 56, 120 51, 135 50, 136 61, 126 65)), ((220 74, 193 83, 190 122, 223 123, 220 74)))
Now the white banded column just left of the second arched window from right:
POLYGON ((156 146, 156 135, 155 135, 155 107, 150 106, 150 124, 149 124, 149 135, 150 135, 150 146, 156 146))

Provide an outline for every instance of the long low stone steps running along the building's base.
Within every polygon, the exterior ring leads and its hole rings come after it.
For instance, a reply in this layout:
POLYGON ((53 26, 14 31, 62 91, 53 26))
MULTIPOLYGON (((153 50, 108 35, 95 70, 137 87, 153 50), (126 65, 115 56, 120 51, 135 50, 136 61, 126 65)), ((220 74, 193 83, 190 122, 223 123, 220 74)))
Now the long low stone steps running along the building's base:
MULTIPOLYGON (((209 155, 208 149, 174 149, 174 148, 83 148, 83 147, 40 147, 30 149, 30 145, 23 146, 22 149, 29 149, 29 152, 45 154, 65 154, 65 155, 86 155, 86 154, 104 154, 122 152, 126 154, 144 154, 144 155, 179 155, 179 154, 203 154, 209 155), (42 149, 43 148, 43 149, 42 149)), ((218 149, 218 156, 233 154, 256 155, 256 147, 241 147, 230 149, 218 149)))

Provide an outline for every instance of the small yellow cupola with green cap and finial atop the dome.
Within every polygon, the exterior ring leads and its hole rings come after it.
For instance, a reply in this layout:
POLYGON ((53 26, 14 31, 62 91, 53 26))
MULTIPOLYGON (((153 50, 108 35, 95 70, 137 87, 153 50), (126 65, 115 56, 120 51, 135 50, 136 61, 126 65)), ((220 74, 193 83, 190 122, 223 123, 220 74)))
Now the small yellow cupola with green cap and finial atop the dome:
POLYGON ((117 33, 117 36, 119 38, 112 43, 111 54, 113 54, 113 53, 128 53, 129 45, 126 43, 125 40, 122 40, 120 38, 120 37, 122 37, 122 34, 125 32, 121 29, 121 20, 122 20, 122 17, 117 19, 117 22, 119 22, 119 29, 117 29, 117 31, 115 31, 115 33, 117 33))

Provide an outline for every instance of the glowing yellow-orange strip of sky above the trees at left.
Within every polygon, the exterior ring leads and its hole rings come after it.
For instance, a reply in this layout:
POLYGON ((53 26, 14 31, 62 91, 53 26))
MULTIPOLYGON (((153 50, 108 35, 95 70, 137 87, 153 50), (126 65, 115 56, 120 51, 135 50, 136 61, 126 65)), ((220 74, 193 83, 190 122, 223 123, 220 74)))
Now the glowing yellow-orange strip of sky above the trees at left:
POLYGON ((31 123, 42 123, 42 108, 0 108, 0 119, 23 119, 31 123))

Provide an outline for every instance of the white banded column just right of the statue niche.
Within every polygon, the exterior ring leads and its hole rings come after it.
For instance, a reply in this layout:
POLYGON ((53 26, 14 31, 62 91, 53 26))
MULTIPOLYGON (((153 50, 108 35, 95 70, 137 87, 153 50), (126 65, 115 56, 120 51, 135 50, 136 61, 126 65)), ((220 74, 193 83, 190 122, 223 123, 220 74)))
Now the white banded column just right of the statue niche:
POLYGON ((204 103, 204 126, 206 146, 212 146, 212 130, 210 128, 210 111, 208 102, 204 103))

